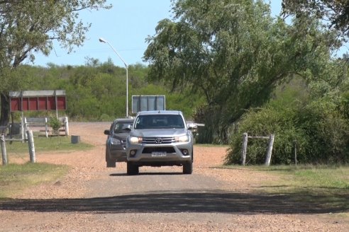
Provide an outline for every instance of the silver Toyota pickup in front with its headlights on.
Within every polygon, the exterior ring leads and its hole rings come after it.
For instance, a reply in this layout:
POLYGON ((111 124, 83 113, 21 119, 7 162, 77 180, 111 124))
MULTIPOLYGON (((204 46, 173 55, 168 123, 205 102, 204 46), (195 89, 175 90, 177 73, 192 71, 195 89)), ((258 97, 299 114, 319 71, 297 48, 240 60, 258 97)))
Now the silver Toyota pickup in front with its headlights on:
POLYGON ((180 111, 138 112, 126 139, 127 174, 138 174, 141 166, 183 166, 192 174, 191 129, 180 111))

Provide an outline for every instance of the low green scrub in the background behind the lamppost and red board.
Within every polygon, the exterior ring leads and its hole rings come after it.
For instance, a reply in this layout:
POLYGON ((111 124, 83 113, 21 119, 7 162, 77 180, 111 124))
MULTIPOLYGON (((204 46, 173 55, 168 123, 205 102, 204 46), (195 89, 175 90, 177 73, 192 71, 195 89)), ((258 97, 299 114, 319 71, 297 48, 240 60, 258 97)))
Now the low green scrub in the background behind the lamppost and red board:
MULTIPOLYGON (((72 121, 113 121, 125 117, 126 88, 125 68, 114 66, 113 62, 101 63, 91 59, 84 66, 48 67, 21 64, 13 75, 14 91, 20 91, 14 82, 22 82, 22 86, 32 91, 43 89, 63 89, 67 98, 67 110, 60 111, 60 116, 67 116, 72 121), (91 62, 92 61, 92 62, 91 62)), ((199 95, 170 93, 160 83, 146 81, 148 66, 130 64, 128 66, 128 103, 129 114, 134 115, 131 107, 132 95, 165 95, 167 110, 182 110, 188 120, 191 120, 193 106, 202 101, 199 95)), ((25 117, 51 117, 54 111, 25 111, 25 117)), ((21 116, 13 112, 15 122, 21 116)), ((17 121, 17 122, 18 122, 17 121)))

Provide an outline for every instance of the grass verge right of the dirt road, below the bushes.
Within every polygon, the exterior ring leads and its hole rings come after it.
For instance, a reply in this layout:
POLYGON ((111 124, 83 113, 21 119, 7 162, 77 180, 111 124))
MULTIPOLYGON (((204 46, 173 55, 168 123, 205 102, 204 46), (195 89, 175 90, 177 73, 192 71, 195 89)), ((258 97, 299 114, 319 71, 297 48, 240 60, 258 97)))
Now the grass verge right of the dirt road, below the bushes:
POLYGON ((269 173, 258 191, 349 217, 349 166, 226 166, 269 173))

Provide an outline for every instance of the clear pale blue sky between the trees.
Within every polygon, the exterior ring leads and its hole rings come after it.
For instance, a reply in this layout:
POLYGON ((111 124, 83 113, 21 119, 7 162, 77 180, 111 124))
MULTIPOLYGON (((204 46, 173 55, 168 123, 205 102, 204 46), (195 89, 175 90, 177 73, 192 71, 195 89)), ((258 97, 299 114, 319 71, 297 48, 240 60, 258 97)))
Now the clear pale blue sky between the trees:
MULTIPOLYGON (((268 2, 268 1, 267 1, 268 2)), ((35 66, 56 65, 84 65, 87 57, 106 62, 111 59, 116 66, 128 64, 146 64, 143 53, 148 44, 145 38, 155 35, 155 27, 164 18, 172 18, 170 0, 108 0, 113 8, 109 10, 84 11, 80 17, 84 23, 92 23, 87 40, 82 47, 75 47, 74 52, 67 54, 67 50, 60 49, 55 44, 48 57, 34 54, 35 66), (108 41, 123 59, 120 59, 107 44, 99 42, 102 37, 108 41)), ((281 10, 281 0, 271 1, 272 16, 281 10)), ((32 64, 26 62, 26 64, 32 64)))

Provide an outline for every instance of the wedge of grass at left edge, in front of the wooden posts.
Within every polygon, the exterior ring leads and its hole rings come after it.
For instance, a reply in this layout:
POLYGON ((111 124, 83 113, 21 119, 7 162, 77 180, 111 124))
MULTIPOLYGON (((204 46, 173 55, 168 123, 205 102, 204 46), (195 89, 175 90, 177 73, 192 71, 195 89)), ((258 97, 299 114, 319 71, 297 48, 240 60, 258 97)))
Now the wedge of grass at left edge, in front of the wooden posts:
POLYGON ((0 166, 0 199, 25 190, 26 187, 61 178, 68 166, 49 163, 9 164, 0 166))

